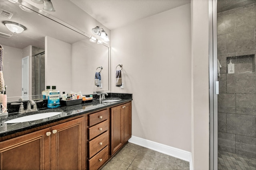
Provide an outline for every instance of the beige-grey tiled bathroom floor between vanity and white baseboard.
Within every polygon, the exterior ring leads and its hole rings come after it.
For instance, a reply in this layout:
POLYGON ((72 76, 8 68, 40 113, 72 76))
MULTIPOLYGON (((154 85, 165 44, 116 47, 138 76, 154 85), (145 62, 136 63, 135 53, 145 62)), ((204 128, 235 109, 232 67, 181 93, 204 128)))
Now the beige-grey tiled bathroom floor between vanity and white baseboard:
POLYGON ((127 143, 101 170, 189 170, 189 162, 127 143))

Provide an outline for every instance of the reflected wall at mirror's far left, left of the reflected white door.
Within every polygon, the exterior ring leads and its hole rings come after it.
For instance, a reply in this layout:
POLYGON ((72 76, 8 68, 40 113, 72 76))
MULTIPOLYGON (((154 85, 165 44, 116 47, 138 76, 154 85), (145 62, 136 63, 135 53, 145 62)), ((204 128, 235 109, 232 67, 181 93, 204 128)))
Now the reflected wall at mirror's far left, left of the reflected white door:
POLYGON ((21 59, 22 49, 5 46, 4 47, 4 84, 7 85, 6 94, 8 96, 21 95, 21 59), (7 76, 8 75, 8 76, 7 76), (10 76, 9 76, 10 75, 10 76), (16 83, 13 83, 13 82, 16 83))

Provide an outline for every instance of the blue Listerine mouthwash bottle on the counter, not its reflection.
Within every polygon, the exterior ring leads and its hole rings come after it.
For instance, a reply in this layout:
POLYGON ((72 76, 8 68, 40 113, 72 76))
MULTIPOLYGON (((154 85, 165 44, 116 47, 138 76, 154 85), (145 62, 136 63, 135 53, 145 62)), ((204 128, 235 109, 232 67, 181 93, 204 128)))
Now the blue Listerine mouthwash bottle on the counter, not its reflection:
POLYGON ((60 106, 60 91, 56 90, 56 86, 52 86, 52 90, 48 92, 48 108, 60 106))

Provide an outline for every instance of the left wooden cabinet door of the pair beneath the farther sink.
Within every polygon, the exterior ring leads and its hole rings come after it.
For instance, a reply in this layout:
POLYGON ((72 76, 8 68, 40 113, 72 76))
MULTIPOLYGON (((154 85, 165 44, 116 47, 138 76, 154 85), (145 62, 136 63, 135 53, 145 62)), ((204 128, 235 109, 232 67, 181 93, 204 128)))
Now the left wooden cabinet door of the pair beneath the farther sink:
POLYGON ((111 108, 111 155, 120 149, 124 143, 122 112, 122 106, 111 108))

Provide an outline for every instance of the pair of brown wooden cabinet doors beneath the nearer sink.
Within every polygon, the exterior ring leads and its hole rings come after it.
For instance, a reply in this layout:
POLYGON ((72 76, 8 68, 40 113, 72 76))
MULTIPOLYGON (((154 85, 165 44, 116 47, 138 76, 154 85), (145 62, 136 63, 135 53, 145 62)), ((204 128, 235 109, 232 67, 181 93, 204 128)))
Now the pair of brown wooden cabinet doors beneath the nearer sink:
POLYGON ((1 170, 85 169, 85 120, 74 119, 0 142, 1 170))

